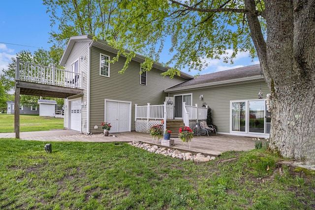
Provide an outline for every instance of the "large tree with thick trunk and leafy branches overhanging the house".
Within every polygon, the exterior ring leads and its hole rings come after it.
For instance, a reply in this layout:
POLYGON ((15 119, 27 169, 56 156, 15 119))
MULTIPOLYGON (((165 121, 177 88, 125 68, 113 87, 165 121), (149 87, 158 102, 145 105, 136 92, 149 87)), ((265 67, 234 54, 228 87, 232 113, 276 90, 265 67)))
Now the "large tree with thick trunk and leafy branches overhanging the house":
MULTIPOLYGON (((54 8, 53 21, 62 20, 54 16, 56 8, 76 9, 71 30, 103 38, 129 58, 134 52, 147 56, 147 70, 171 38, 170 76, 184 66, 201 70, 205 60, 227 49, 233 54, 226 61, 241 51, 258 56, 272 94, 270 150, 315 160, 315 0, 120 0, 112 1, 115 9, 105 22, 99 20, 106 1, 44 1, 54 8)), ((67 11, 73 10, 63 9, 63 17, 67 11)), ((69 30, 59 24, 53 35, 68 38, 69 30)))

